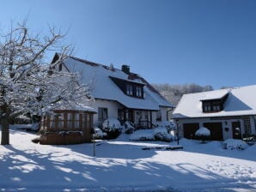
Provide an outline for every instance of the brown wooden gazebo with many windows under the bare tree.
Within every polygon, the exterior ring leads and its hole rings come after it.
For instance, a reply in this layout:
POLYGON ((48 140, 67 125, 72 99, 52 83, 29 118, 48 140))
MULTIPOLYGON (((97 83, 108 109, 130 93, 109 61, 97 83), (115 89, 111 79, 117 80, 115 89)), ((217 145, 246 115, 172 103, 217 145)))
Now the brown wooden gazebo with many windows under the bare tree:
POLYGON ((40 144, 69 145, 92 141, 93 117, 90 107, 55 110, 41 118, 40 144))

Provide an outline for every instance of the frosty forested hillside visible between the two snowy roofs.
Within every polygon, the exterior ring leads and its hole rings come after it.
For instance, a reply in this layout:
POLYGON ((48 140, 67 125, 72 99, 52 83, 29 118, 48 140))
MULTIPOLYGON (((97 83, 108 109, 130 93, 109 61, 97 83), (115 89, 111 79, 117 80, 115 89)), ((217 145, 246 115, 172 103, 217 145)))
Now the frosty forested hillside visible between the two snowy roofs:
MULTIPOLYGON (((195 83, 187 83, 184 85, 171 85, 168 83, 164 84, 152 84, 155 89, 162 94, 169 102, 173 105, 177 105, 183 94, 186 93, 199 93, 212 91, 213 87, 210 85, 199 86, 195 83)), ((222 87, 224 88, 224 87, 222 87)))

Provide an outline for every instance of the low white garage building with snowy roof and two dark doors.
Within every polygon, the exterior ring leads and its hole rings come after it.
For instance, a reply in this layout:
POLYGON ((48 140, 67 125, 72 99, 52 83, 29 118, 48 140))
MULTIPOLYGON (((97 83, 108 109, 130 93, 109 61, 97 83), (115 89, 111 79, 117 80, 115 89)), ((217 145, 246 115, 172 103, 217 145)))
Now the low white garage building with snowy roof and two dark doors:
POLYGON ((256 85, 185 94, 173 118, 180 136, 188 139, 203 126, 210 129, 212 140, 255 135, 256 85))

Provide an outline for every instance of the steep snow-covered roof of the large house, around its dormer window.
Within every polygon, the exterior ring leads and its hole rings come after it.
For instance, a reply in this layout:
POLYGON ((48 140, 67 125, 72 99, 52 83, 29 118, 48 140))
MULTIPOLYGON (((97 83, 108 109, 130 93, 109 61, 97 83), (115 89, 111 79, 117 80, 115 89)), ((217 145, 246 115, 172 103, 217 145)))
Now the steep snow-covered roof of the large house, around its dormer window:
POLYGON ((147 81, 137 74, 131 73, 127 75, 121 69, 114 69, 113 66, 108 67, 76 57, 68 57, 64 61, 64 65, 70 71, 79 72, 82 75, 82 83, 90 85, 91 95, 95 99, 115 100, 127 108, 142 110, 157 111, 160 106, 173 106, 154 87, 151 87, 147 81), (142 84, 144 86, 144 99, 125 95, 110 77, 142 84))

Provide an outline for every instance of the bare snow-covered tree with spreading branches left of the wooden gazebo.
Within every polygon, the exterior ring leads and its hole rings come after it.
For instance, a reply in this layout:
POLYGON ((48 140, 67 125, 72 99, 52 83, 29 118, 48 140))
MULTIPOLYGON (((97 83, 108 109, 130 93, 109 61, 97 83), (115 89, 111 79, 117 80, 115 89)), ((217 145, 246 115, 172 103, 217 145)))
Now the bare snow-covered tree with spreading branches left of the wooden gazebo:
POLYGON ((2 145, 9 144, 9 123, 20 115, 40 116, 61 105, 88 99, 88 86, 79 76, 56 67, 70 55, 61 45, 64 35, 50 28, 47 36, 30 33, 26 22, 18 23, 0 37, 0 120, 2 145), (58 57, 46 61, 52 51, 58 57))

